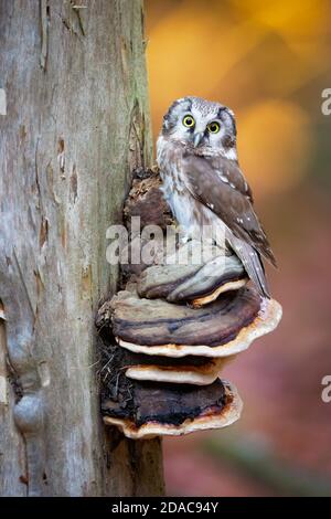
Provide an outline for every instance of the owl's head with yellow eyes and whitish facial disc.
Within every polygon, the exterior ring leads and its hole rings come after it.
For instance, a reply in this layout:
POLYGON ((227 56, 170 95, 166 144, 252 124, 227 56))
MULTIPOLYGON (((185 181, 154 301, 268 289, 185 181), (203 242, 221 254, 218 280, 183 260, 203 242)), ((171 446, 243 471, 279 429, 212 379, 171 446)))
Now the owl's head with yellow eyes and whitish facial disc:
POLYGON ((195 148, 236 157, 236 123, 233 112, 201 97, 182 97, 163 117, 161 135, 195 148))

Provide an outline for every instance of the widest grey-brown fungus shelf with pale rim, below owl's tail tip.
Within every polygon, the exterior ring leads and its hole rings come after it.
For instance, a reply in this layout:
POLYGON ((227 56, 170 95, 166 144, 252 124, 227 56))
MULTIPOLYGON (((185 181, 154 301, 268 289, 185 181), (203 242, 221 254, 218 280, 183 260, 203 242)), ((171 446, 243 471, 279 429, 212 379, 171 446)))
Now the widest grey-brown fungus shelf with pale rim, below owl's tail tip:
POLYGON ((261 299, 247 287, 223 294, 199 309, 162 299, 141 299, 136 292, 120 292, 111 300, 118 343, 153 356, 232 356, 271 331, 280 317, 277 301, 261 299))

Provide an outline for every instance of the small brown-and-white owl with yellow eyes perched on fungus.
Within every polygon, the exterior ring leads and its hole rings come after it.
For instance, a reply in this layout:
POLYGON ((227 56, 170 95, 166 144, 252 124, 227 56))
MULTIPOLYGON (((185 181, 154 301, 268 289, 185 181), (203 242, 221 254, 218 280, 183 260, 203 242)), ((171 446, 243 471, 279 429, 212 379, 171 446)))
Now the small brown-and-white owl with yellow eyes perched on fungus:
POLYGON ((162 191, 188 236, 204 225, 222 229, 259 293, 270 297, 261 257, 276 266, 241 171, 236 123, 224 105, 183 97, 170 106, 157 142, 162 191))

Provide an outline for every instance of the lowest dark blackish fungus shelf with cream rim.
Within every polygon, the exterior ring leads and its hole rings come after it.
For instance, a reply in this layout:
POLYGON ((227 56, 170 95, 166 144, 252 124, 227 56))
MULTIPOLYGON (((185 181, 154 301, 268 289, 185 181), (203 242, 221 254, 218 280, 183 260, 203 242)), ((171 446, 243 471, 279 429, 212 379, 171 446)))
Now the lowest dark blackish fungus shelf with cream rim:
POLYGON ((234 385, 221 380, 207 386, 136 382, 132 404, 125 411, 103 403, 104 422, 130 438, 182 435, 221 428, 238 420, 242 400, 234 385))

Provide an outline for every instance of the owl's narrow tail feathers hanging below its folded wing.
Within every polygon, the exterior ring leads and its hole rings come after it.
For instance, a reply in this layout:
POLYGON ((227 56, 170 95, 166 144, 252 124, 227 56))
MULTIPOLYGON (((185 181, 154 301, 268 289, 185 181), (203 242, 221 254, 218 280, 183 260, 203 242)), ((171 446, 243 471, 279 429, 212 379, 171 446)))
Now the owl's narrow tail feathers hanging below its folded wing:
POLYGON ((270 290, 259 253, 252 245, 233 234, 228 237, 228 242, 260 295, 270 299, 270 290))

